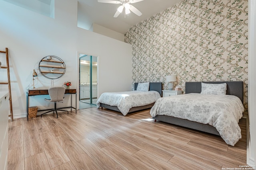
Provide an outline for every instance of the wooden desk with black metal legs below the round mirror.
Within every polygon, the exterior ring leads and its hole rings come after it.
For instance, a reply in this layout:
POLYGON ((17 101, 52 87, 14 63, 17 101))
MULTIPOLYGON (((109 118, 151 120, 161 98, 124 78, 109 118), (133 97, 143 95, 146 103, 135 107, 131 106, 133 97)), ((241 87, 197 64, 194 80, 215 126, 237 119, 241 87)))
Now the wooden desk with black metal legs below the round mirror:
MULTIPOLYGON (((76 94, 76 89, 66 89, 65 94, 76 94)), ((38 95, 49 95, 48 94, 48 89, 28 89, 27 91, 27 117, 28 117, 28 107, 29 107, 29 97, 30 96, 38 96, 38 95)), ((76 107, 72 106, 72 97, 71 97, 71 106, 69 107, 61 107, 58 109, 65 109, 65 108, 72 108, 76 109, 76 107)), ((44 110, 38 110, 38 111, 46 111, 46 110, 51 110, 51 109, 44 109, 44 110)))

